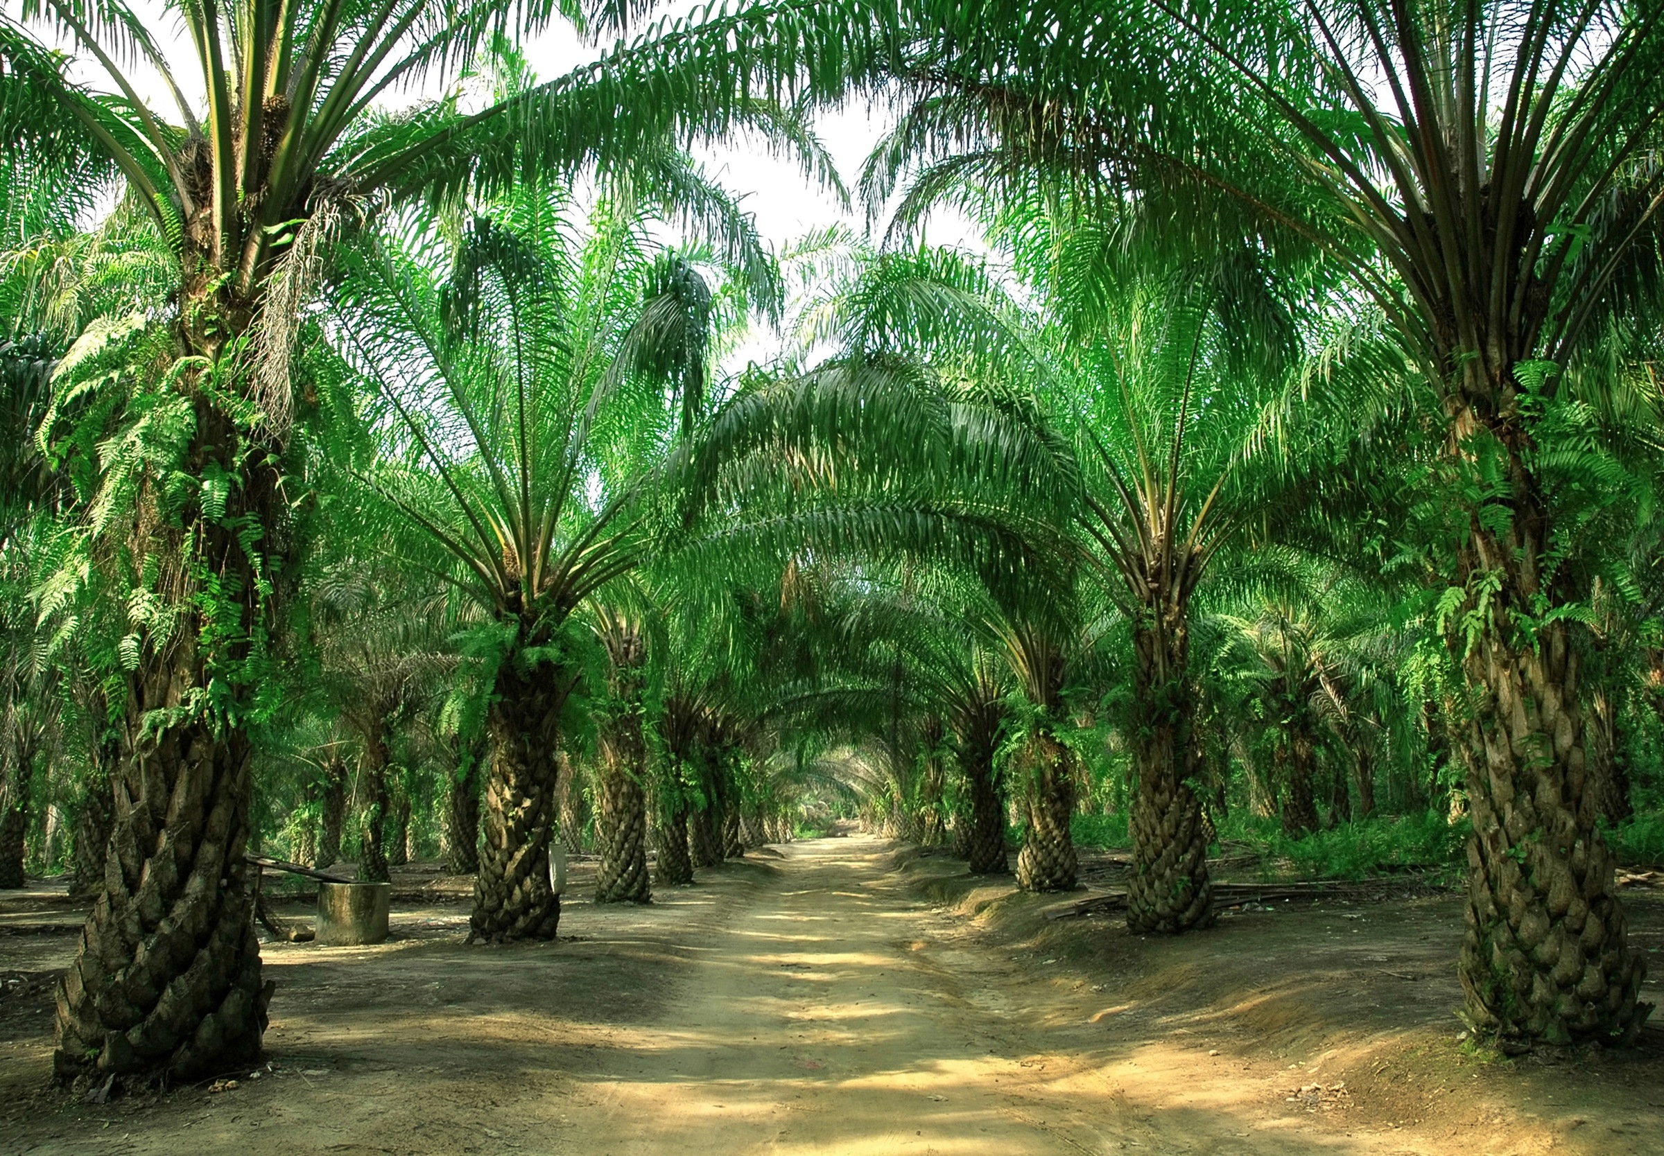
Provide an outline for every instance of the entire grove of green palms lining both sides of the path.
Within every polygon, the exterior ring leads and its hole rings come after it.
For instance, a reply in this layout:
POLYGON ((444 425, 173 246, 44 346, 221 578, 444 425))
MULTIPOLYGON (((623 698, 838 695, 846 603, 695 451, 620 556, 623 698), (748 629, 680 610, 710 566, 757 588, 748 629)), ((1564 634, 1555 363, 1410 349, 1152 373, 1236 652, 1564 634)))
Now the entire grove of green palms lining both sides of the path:
POLYGON ((0 25, 0 872, 97 895, 62 1076, 258 1053, 256 845, 376 877, 443 812, 473 938, 549 940, 562 825, 644 900, 849 798, 1038 892, 1113 812, 1170 933, 1233 810, 1434 805, 1469 1025, 1639 1030, 1649 8, 170 13, 190 75, 118 2, 0 25), (562 22, 634 40, 537 83, 562 22), (692 160, 837 188, 862 101, 880 241, 772 253, 692 160))

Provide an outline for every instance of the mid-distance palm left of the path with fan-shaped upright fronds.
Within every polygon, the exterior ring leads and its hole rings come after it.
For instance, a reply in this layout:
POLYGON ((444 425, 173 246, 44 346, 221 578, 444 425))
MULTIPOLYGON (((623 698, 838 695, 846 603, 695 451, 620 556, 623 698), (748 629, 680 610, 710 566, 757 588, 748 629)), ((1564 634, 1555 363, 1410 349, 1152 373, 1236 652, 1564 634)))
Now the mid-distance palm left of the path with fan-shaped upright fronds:
POLYGON ((709 293, 654 256, 627 185, 587 235, 549 185, 496 208, 454 245, 418 221, 383 235, 346 268, 334 318, 389 437, 364 486, 411 542, 404 564, 484 619, 464 645, 491 747, 473 935, 547 940, 561 715, 592 645, 572 612, 649 552, 662 383, 702 363, 709 293))

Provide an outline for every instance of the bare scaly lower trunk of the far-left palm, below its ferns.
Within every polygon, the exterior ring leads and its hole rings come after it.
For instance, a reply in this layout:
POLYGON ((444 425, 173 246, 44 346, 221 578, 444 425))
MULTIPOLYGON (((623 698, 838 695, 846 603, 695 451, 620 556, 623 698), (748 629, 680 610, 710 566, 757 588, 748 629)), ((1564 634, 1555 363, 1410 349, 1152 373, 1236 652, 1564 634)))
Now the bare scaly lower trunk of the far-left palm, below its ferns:
MULTIPOLYGON (((130 719, 200 685, 186 647, 131 680, 130 719)), ((143 734, 115 775, 105 890, 58 985, 60 1079, 196 1079, 260 1055, 273 983, 260 975, 248 840, 250 743, 193 719, 143 734)))

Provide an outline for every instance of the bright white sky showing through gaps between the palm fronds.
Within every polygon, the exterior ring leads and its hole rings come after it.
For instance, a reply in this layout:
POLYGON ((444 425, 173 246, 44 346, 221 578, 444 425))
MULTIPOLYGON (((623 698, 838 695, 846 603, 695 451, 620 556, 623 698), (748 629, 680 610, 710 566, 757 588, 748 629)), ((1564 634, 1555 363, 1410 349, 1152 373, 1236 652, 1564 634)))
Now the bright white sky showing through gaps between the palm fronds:
MULTIPOLYGON (((3 3, 8 15, 17 17, 17 0, 0 0, 0 3, 3 3)), ((652 18, 686 15, 696 7, 691 0, 672 0, 671 3, 662 3, 652 18)), ((133 0, 133 8, 145 18, 186 98, 201 108, 200 83, 193 83, 196 72, 191 62, 190 42, 180 18, 161 0, 133 0)), ((636 32, 646 27, 644 22, 637 25, 636 32)), ((35 32, 47 35, 42 25, 35 25, 35 32)), ((632 32, 632 37, 636 32, 632 32)), ((93 90, 108 91, 111 88, 97 60, 77 52, 67 40, 60 38, 58 43, 77 57, 72 70, 77 80, 93 90)), ((527 63, 539 80, 552 80, 601 57, 611 47, 611 43, 586 45, 562 23, 521 45, 527 63)), ((163 118, 178 118, 173 98, 163 86, 160 75, 148 67, 135 65, 128 70, 128 78, 140 96, 163 118)), ((436 88, 403 90, 394 93, 386 103, 393 106, 408 105, 413 100, 436 93, 436 88)), ((887 128, 887 113, 879 110, 875 115, 870 115, 865 106, 850 106, 827 113, 817 121, 817 131, 845 185, 850 185, 859 176, 860 165, 869 150, 887 128)), ((830 193, 809 186, 794 163, 769 156, 755 143, 735 141, 732 145, 697 150, 697 155, 706 163, 711 176, 740 198, 742 206, 754 215, 757 231, 775 251, 810 230, 825 228, 837 221, 844 221, 855 230, 865 228, 864 213, 859 206, 852 211, 842 210, 830 193)), ((879 230, 882 231, 882 223, 879 230)), ((937 245, 965 245, 977 251, 985 251, 977 230, 957 213, 937 213, 929 223, 929 236, 937 245)), ((739 369, 747 359, 765 359, 774 353, 775 346, 777 339, 772 334, 757 333, 726 359, 727 364, 724 369, 739 369)))

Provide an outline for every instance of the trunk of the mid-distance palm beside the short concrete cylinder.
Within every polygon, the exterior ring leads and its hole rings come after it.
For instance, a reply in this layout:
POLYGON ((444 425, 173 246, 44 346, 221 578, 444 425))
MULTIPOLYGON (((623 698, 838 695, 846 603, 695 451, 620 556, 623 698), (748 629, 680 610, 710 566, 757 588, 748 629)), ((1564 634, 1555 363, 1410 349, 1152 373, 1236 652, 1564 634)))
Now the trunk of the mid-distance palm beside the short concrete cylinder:
POLYGON ((486 719, 491 777, 469 941, 552 940, 561 923, 561 897, 549 887, 549 837, 557 818, 557 729, 574 685, 561 670, 527 677, 511 659, 498 672, 486 719))

